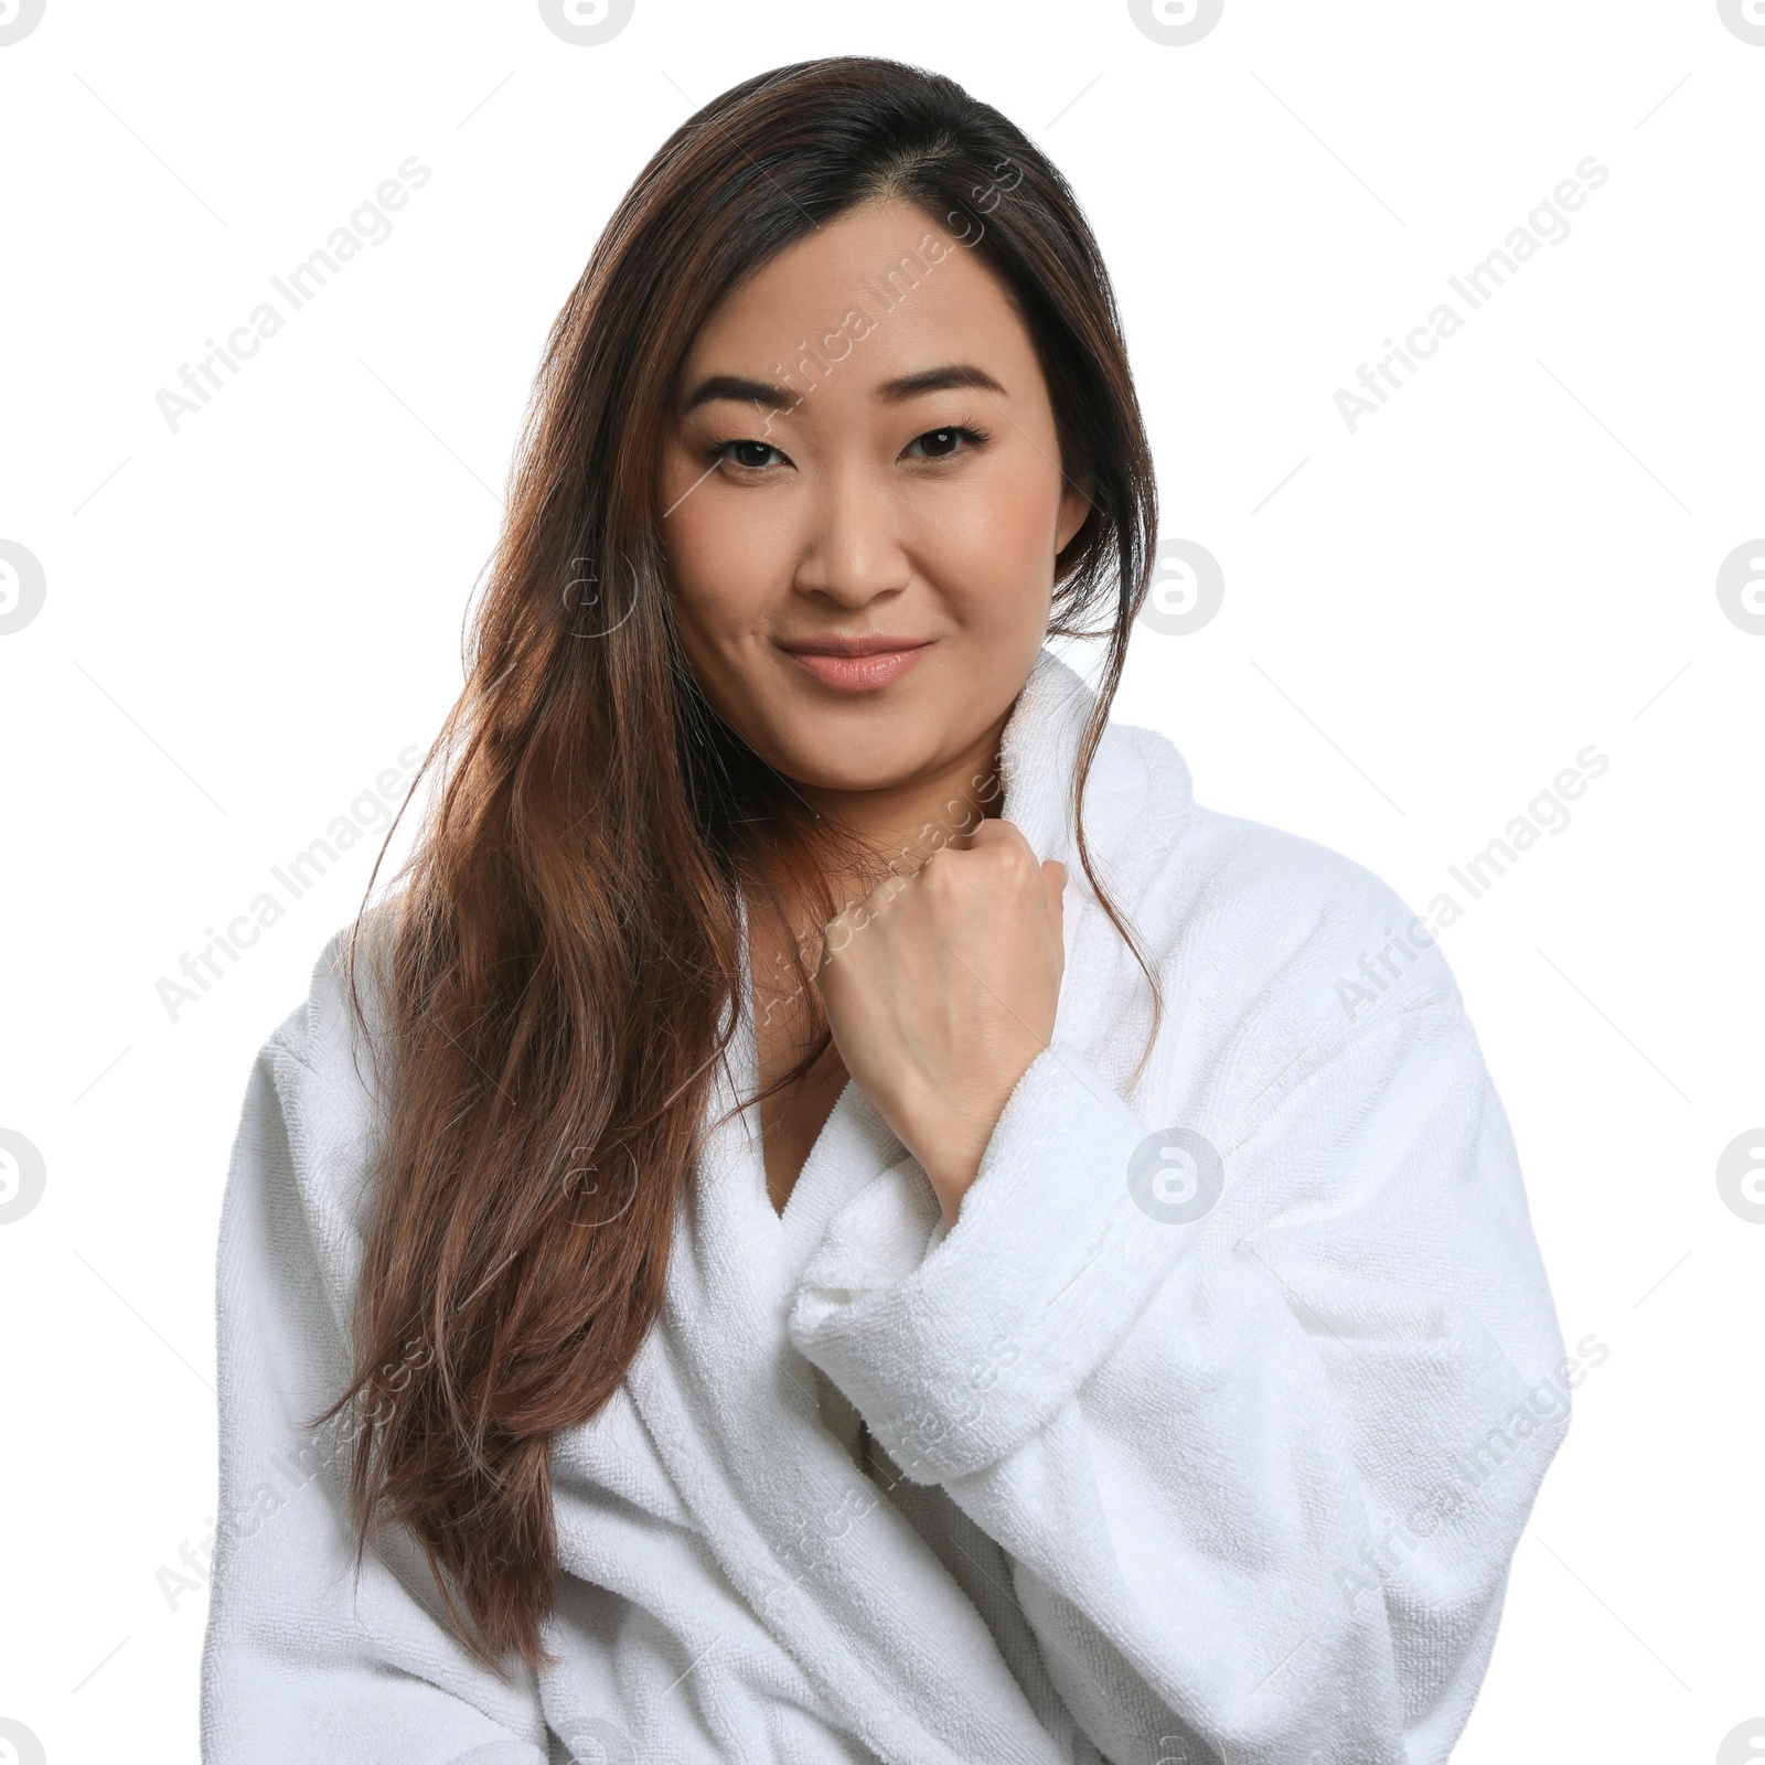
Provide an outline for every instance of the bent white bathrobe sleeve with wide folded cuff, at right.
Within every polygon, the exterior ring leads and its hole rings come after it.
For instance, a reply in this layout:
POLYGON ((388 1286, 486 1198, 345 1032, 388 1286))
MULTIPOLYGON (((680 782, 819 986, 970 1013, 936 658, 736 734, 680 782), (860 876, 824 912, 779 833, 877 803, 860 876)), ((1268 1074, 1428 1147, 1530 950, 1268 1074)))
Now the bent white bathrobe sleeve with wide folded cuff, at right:
POLYGON ((1447 1758, 1569 1414, 1456 988, 1191 1123, 1057 1038, 913 1266, 879 1264, 870 1190, 792 1340, 1003 1548, 1105 1758, 1447 1758))

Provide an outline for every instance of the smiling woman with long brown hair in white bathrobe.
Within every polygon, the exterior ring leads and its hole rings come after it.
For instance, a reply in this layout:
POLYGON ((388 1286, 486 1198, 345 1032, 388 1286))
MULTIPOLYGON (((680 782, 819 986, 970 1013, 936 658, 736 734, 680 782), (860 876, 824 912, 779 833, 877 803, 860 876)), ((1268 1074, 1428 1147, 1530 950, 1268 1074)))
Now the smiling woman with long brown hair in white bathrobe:
POLYGON ((1557 1318, 1419 921, 1108 722, 1154 533, 997 111, 805 62, 650 162, 252 1073, 207 1758, 1447 1756, 1557 1318))

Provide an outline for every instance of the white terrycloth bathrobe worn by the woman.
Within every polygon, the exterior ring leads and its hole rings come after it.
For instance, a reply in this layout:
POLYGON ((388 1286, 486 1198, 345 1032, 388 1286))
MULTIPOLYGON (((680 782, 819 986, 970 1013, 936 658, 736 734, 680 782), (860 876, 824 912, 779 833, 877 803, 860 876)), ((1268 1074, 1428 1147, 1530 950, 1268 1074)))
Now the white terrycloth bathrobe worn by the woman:
MULTIPOLYGON (((1507 1121, 1398 897, 1112 724, 1085 830, 1165 994, 1135 1078, 1151 999, 1071 838, 1089 706, 1045 651, 1006 729, 1066 974, 955 1227, 856 1085, 782 1221, 755 1112, 718 1130, 664 1313, 554 1440, 538 1677, 471 1663, 408 1539, 353 1599, 344 1454, 297 1460, 376 1131, 327 946, 221 1223, 210 1765, 1447 1758, 1567 1424, 1507 1121)), ((738 1013, 713 1114, 755 1085, 738 1013)))

